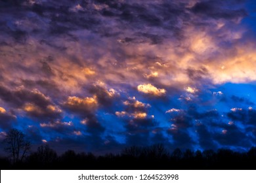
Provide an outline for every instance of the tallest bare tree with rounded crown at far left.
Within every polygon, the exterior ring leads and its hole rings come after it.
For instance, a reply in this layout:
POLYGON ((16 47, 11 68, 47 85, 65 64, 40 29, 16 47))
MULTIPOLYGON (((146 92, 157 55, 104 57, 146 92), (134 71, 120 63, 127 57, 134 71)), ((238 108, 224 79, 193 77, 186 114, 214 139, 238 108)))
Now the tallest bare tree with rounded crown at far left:
POLYGON ((31 148, 29 141, 25 140, 25 135, 18 129, 11 129, 3 141, 5 151, 10 154, 13 163, 23 161, 31 148))

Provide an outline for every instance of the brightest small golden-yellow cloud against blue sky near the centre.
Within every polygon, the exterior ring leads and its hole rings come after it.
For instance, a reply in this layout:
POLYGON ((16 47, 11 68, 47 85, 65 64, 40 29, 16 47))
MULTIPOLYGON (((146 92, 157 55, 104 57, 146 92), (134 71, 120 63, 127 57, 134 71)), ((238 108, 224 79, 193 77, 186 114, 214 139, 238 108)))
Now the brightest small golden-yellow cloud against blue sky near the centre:
POLYGON ((155 96, 162 96, 165 95, 166 90, 165 89, 158 89, 152 84, 140 84, 137 86, 137 90, 142 93, 155 95, 155 96))

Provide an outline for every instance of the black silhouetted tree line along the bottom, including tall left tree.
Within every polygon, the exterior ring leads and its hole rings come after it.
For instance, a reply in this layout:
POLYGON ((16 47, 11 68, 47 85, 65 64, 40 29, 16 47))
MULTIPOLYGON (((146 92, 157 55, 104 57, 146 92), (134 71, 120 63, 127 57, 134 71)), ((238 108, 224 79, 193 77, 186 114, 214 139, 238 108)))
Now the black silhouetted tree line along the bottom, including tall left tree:
POLYGON ((247 152, 224 148, 217 151, 181 151, 177 148, 169 152, 163 144, 152 144, 127 147, 119 154, 95 156, 91 152, 67 150, 58 156, 47 144, 28 154, 30 143, 24 141, 20 133, 18 130, 7 133, 5 143, 10 156, 0 158, 1 169, 256 169, 256 147, 247 152), (10 140, 10 134, 15 138, 10 140))

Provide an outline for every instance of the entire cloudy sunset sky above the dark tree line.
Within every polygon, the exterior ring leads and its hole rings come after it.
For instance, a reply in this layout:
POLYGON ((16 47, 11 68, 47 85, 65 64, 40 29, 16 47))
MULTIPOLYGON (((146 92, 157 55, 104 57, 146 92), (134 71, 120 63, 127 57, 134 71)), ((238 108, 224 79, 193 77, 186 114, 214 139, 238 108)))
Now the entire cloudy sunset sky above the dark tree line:
POLYGON ((256 145, 256 2, 1 0, 0 141, 256 145))

